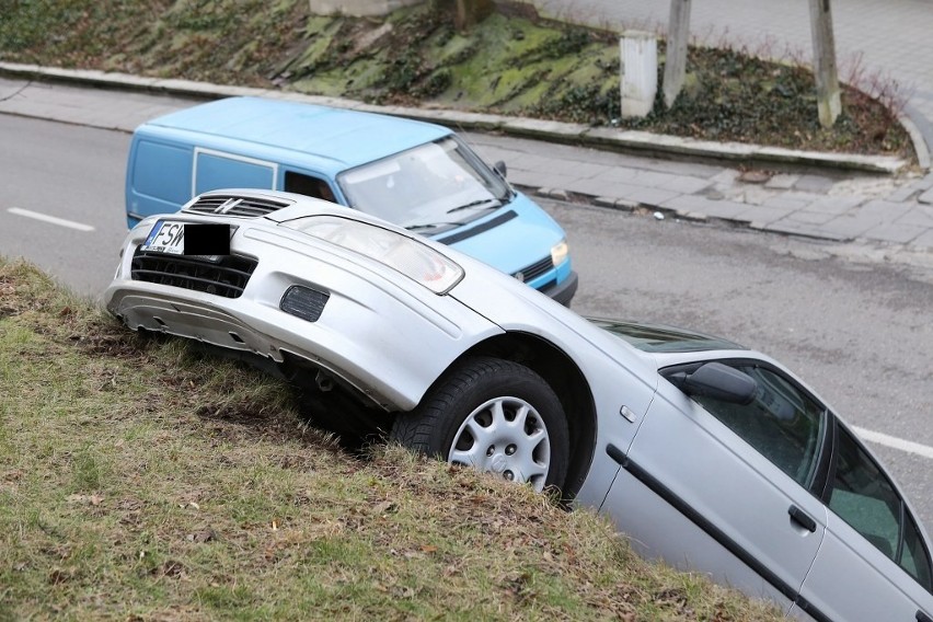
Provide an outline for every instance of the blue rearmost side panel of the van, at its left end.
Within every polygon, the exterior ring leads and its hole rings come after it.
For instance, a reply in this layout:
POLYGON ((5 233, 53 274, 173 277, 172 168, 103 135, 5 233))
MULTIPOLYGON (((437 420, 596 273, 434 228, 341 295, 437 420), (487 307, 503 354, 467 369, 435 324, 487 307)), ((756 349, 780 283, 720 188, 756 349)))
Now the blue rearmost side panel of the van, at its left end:
POLYGON ((191 198, 191 180, 189 146, 138 137, 127 173, 127 216, 177 211, 191 198))

